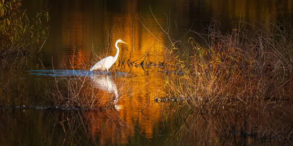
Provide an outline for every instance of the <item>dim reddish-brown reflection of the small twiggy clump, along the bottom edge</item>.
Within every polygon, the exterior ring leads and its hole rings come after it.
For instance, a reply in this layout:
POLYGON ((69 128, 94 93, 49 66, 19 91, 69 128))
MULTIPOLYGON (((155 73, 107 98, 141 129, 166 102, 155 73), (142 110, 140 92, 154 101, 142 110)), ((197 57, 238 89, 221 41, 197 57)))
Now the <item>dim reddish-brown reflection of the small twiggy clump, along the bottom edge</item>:
POLYGON ((115 110, 53 112, 51 116, 55 123, 51 136, 59 135, 59 143, 63 145, 85 142, 90 145, 126 144, 135 129, 115 110))

